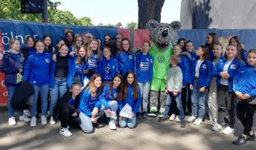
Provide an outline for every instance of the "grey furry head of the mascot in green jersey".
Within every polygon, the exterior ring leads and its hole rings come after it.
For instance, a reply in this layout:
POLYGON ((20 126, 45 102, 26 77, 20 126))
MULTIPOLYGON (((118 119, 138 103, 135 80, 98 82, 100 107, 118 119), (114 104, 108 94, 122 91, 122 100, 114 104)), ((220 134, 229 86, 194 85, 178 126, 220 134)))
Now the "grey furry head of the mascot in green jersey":
POLYGON ((178 31, 181 30, 181 22, 158 23, 156 20, 149 20, 147 28, 150 31, 149 37, 159 49, 166 49, 170 42, 178 38, 178 31))

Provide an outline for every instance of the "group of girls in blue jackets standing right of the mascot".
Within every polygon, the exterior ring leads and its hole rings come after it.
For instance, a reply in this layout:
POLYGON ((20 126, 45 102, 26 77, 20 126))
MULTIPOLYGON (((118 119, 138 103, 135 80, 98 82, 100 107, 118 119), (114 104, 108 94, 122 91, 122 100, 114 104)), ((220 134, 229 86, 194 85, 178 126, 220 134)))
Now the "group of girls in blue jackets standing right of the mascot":
MULTIPOLYGON (((181 58, 180 65, 178 65, 182 71, 184 92, 181 92, 181 100, 177 101, 177 96, 172 98, 173 102, 177 102, 179 111, 175 111, 175 107, 172 107, 170 113, 173 114, 169 120, 181 121, 178 115, 181 115, 183 120, 183 113, 179 108, 182 104, 184 113, 186 110, 190 111, 191 108, 191 116, 187 118, 187 122, 199 125, 202 124, 206 115, 209 115, 212 130, 222 130, 222 133, 230 134, 234 133, 237 115, 245 130, 242 136, 239 136, 233 143, 242 145, 247 140, 255 139, 254 132, 251 130, 253 114, 256 110, 254 101, 256 84, 251 78, 255 73, 255 50, 251 49, 247 53, 245 49, 242 49, 239 38, 233 36, 224 52, 215 33, 208 34, 206 44, 199 46, 197 50, 194 50, 191 40, 181 39, 179 42, 174 46, 173 53, 178 55, 178 51, 183 50, 181 55, 187 58, 188 63, 181 58), (182 63, 188 64, 185 68, 190 68, 188 80, 184 78, 186 71, 182 63), (187 83, 188 89, 186 89, 187 83), (236 92, 237 89, 239 92, 236 92), (187 97, 187 94, 190 96, 187 97)), ((166 101, 166 107, 169 107, 169 104, 173 103, 166 101)), ((166 116, 159 119, 159 121, 164 120, 166 116)), ((184 127, 184 124, 181 124, 181 127, 184 127)))

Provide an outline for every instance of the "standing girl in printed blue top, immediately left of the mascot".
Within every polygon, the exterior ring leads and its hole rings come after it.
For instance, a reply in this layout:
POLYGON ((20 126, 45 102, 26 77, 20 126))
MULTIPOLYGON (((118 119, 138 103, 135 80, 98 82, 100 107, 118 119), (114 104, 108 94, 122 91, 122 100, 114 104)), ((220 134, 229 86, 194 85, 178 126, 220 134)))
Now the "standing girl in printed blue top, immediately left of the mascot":
POLYGON ((145 41, 142 45, 142 53, 136 55, 136 76, 143 98, 142 107, 139 107, 137 118, 148 117, 148 94, 153 76, 153 58, 148 54, 150 46, 151 43, 145 41))

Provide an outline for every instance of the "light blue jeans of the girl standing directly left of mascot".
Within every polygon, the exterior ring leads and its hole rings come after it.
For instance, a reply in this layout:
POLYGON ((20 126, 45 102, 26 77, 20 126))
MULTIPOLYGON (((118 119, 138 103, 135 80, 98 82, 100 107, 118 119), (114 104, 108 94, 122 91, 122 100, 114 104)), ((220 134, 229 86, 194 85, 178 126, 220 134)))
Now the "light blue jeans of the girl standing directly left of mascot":
POLYGON ((139 112, 148 113, 148 94, 150 90, 151 83, 138 83, 139 89, 142 95, 142 107, 139 107, 139 112))

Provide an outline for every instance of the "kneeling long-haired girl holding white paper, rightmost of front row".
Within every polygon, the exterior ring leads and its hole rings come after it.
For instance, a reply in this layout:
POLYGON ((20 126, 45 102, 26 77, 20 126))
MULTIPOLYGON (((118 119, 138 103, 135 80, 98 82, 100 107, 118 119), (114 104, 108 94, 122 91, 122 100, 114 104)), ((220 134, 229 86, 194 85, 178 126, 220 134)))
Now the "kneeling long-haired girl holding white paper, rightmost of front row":
POLYGON ((118 103, 119 110, 121 111, 126 104, 129 104, 132 107, 132 113, 130 116, 132 118, 126 118, 119 116, 119 125, 120 127, 136 127, 136 113, 139 110, 139 107, 142 103, 142 96, 137 85, 136 75, 133 71, 128 71, 126 74, 126 81, 123 86, 123 101, 118 103))

